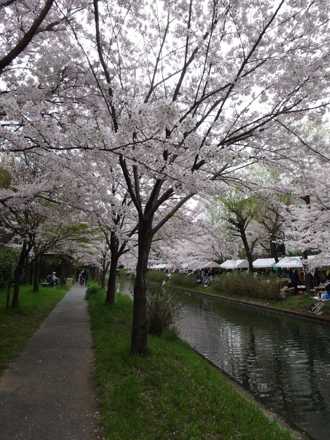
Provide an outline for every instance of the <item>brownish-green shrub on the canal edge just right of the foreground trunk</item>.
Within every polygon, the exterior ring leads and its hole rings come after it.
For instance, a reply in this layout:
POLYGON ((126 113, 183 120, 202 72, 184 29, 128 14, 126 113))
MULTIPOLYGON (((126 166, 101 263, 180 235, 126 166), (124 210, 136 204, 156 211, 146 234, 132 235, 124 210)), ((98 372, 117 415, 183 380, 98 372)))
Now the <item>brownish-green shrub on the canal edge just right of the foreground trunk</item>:
MULTIPOLYGON (((160 287, 148 288, 147 292, 147 325, 148 333, 160 336, 165 329, 173 328, 180 316, 182 306, 173 293, 160 287)), ((178 334, 174 328, 172 337, 178 334)))

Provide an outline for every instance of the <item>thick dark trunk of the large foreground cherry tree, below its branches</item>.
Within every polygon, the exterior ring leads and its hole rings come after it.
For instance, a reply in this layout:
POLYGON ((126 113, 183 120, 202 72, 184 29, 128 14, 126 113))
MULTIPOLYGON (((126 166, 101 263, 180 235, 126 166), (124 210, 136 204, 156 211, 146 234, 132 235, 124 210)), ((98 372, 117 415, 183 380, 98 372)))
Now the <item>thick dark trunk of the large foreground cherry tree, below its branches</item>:
POLYGON ((147 356, 147 265, 152 241, 152 219, 139 221, 138 263, 134 285, 130 354, 147 356))

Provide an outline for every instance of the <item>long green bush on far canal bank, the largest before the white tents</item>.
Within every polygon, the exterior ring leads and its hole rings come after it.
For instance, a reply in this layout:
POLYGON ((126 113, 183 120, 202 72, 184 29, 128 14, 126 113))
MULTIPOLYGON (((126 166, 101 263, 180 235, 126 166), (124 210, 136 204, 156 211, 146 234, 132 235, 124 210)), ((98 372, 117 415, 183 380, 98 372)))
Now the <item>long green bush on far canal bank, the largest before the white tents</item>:
POLYGON ((276 275, 254 277, 246 272, 222 274, 212 280, 212 287, 219 293, 245 295, 253 298, 279 299, 280 280, 276 275))

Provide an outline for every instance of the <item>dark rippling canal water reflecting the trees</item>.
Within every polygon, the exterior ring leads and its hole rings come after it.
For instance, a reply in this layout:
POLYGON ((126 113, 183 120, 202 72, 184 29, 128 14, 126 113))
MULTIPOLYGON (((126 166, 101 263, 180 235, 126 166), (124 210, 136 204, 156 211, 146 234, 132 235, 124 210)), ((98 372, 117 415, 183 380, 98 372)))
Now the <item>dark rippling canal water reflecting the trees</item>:
MULTIPOLYGON (((120 285, 133 291, 131 281, 120 285)), ((330 439, 330 325, 176 295, 183 340, 315 440, 330 439)))

